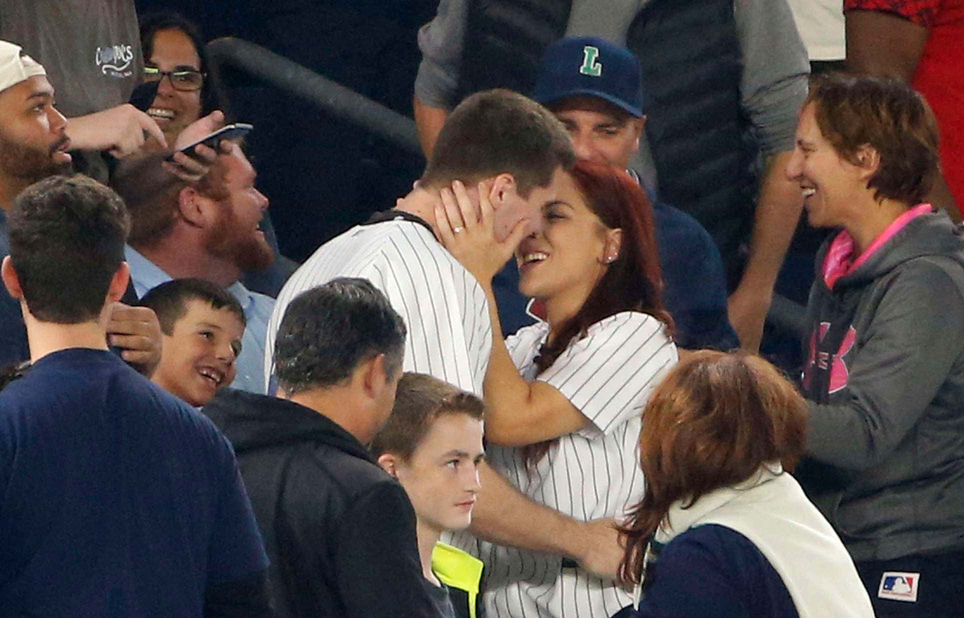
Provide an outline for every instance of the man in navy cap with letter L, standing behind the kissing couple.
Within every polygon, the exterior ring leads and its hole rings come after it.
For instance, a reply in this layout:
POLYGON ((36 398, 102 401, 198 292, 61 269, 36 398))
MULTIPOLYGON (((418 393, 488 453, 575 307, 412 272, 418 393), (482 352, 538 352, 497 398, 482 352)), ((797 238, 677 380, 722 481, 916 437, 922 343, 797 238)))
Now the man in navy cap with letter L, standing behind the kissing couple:
MULTIPOLYGON (((596 37, 562 39, 547 48, 532 98, 562 121, 576 156, 628 169, 646 123, 641 77, 639 62, 626 47, 596 37)), ((628 172, 639 180, 632 170, 628 172)), ((735 348, 739 341, 727 317, 723 263, 710 234, 644 188, 656 216, 664 300, 676 321, 678 345, 735 348)), ((508 268, 513 270, 498 278, 503 295, 518 283, 514 265, 508 268)), ((504 316, 503 324, 513 317, 504 316)))

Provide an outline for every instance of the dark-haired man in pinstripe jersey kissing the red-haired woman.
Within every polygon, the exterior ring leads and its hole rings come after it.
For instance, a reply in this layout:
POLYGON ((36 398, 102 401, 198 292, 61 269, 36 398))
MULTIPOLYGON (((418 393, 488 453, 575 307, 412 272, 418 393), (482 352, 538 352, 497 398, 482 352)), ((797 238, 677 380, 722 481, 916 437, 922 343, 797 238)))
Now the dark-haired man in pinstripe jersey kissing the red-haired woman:
MULTIPOLYGON (((497 90, 467 98, 448 117, 415 189, 395 208, 323 245, 285 284, 268 325, 266 384, 288 303, 335 277, 361 277, 388 296, 408 326, 406 371, 481 393, 492 347, 488 303, 478 282, 438 242, 442 192, 453 182, 464 183, 476 200, 476 187, 488 191, 496 234, 519 238, 539 225, 542 205, 554 200, 559 179, 574 163, 565 128, 534 101, 497 90)), ((474 534, 615 575, 622 551, 610 522, 577 522, 536 504, 486 466, 480 476, 474 534)))

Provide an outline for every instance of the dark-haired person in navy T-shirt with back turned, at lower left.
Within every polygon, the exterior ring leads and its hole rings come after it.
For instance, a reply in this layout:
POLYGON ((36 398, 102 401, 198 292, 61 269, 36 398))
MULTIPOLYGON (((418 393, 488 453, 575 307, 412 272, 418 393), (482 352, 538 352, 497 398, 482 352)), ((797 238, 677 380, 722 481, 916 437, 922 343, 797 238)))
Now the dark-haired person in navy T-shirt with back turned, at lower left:
POLYGON ((0 392, 0 615, 270 615, 228 441, 107 350, 123 202, 53 176, 9 221, 0 271, 33 364, 0 392))

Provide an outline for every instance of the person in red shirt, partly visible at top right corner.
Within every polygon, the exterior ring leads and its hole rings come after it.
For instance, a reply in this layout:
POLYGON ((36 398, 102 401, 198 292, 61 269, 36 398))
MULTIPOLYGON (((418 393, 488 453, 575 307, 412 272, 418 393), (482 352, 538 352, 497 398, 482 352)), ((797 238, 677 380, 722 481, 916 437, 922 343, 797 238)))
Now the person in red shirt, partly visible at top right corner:
POLYGON ((933 109, 944 179, 927 199, 959 221, 964 213, 964 0, 844 0, 844 12, 847 67, 900 77, 933 109))

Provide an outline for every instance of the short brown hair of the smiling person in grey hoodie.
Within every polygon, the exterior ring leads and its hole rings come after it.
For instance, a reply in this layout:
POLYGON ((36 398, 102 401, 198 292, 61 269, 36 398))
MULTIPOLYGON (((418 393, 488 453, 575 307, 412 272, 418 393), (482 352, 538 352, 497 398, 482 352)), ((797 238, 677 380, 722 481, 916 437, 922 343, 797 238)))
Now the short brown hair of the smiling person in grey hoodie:
POLYGON ((876 200, 924 201, 940 170, 937 121, 921 94, 897 79, 830 73, 814 79, 804 106, 844 160, 859 165, 861 147, 880 155, 868 187, 876 200))

